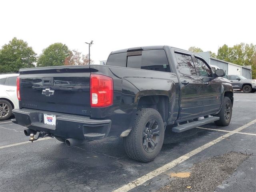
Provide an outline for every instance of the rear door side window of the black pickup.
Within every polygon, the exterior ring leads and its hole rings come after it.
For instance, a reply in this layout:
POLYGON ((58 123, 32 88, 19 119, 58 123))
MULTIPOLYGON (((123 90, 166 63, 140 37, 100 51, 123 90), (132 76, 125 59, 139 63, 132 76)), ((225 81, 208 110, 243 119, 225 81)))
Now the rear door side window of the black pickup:
POLYGON ((185 75, 196 75, 196 68, 191 55, 175 52, 179 70, 185 75))

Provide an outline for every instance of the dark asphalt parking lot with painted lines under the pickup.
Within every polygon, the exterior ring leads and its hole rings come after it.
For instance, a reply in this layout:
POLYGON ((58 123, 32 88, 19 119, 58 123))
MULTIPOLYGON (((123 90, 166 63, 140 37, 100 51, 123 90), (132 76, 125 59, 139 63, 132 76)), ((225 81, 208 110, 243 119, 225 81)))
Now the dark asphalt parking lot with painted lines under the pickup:
POLYGON ((1 192, 256 191, 256 93, 234 93, 227 127, 166 128, 150 163, 129 159, 122 138, 67 147, 55 138, 27 142, 23 130, 0 122, 1 192))

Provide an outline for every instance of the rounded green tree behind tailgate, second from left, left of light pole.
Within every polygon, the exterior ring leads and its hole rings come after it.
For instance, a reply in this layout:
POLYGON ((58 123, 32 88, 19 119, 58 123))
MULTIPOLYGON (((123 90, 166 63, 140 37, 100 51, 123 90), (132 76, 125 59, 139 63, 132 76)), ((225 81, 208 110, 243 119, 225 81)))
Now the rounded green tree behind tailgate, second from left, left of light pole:
POLYGON ((62 43, 54 43, 45 48, 37 62, 38 67, 61 66, 69 62, 72 52, 62 43))

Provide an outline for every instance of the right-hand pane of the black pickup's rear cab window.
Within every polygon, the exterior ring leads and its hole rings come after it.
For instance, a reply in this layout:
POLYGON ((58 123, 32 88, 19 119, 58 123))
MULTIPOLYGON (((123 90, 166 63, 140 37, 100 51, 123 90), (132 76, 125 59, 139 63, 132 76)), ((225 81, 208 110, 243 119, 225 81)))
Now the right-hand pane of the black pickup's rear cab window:
POLYGON ((163 49, 142 51, 141 69, 170 72, 165 51, 163 49))

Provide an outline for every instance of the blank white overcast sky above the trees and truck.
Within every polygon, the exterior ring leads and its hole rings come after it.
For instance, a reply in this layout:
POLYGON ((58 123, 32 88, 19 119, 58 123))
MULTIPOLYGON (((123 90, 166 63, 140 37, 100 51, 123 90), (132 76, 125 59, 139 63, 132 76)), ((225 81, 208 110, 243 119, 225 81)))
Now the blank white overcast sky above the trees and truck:
POLYGON ((61 42, 94 64, 111 51, 152 45, 217 53, 227 44, 256 44, 255 0, 4 0, 0 47, 17 37, 40 55, 61 42))

